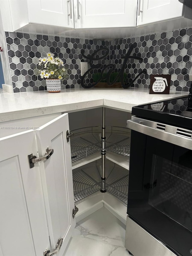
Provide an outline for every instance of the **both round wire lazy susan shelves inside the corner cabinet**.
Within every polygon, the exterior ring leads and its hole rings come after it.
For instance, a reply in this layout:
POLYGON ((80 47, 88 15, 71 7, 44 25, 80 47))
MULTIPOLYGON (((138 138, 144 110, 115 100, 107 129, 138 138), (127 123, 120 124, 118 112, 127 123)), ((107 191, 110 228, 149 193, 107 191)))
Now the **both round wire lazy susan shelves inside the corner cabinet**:
MULTIPOLYGON (((101 126, 73 130, 71 137, 71 160, 77 161, 101 152, 101 126)), ((106 152, 129 157, 131 131, 127 128, 106 126, 106 152)), ((75 203, 101 189, 102 163, 98 159, 83 167, 73 170, 73 190, 75 203)), ((128 198, 129 171, 106 159, 106 189, 125 205, 128 198)))

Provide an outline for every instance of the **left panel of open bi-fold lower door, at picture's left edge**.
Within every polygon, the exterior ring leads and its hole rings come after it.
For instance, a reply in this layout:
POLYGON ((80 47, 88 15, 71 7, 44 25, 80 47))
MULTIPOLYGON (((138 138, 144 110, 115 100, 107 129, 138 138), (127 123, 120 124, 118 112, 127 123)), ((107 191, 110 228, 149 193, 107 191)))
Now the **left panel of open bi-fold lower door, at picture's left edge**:
POLYGON ((3 256, 38 256, 49 246, 39 167, 29 168, 37 152, 35 132, 0 139, 0 244, 3 256))

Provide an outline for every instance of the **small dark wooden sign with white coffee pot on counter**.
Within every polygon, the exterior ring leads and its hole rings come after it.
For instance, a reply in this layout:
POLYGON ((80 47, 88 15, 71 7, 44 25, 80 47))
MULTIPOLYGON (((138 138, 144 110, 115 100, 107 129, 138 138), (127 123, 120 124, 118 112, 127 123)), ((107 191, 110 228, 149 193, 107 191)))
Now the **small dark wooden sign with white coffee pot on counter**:
POLYGON ((149 94, 169 94, 171 75, 151 75, 149 94))

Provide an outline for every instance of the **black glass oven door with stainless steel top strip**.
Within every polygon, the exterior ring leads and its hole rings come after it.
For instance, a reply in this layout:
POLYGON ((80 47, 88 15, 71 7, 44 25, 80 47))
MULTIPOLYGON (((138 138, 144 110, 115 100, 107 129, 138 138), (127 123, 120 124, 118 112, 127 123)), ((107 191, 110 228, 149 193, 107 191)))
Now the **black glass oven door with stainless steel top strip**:
POLYGON ((188 135, 169 136, 164 131, 168 128, 156 129, 162 124, 155 122, 146 128, 146 122, 128 121, 132 130, 127 213, 176 255, 191 256, 192 140, 188 135))

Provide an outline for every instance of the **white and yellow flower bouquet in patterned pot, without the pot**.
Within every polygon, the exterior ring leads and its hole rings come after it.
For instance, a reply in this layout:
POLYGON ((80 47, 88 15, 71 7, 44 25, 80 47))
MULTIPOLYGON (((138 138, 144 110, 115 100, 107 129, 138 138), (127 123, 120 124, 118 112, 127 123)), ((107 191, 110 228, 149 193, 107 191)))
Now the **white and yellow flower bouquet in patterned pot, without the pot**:
POLYGON ((54 54, 47 53, 47 57, 39 58, 38 74, 41 78, 46 79, 66 79, 69 75, 67 68, 64 68, 63 61, 54 54))

